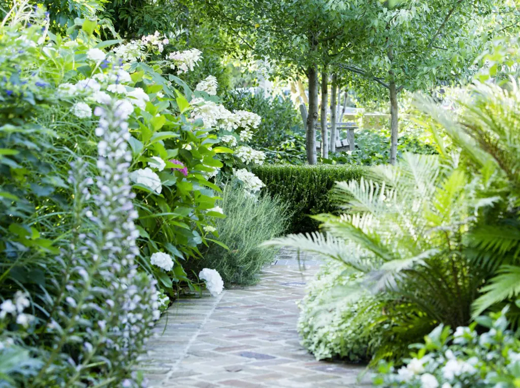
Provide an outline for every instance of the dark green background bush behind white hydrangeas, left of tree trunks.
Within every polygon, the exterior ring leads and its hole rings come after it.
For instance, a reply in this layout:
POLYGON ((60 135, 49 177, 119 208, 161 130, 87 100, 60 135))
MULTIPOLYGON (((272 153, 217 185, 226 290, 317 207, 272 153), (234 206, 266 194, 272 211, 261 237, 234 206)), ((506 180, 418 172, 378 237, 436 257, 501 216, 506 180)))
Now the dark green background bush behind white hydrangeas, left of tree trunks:
POLYGON ((289 98, 265 97, 262 93, 230 92, 223 96, 223 104, 229 110, 248 110, 262 117, 251 144, 255 148, 276 150, 288 136, 302 134, 303 123, 289 98))

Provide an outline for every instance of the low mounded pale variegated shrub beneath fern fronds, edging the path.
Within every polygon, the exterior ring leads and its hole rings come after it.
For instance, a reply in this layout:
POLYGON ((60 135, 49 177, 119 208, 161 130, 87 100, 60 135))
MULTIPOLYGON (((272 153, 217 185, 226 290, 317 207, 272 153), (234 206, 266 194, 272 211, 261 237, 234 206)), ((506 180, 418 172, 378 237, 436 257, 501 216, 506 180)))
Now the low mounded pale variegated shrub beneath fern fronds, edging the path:
POLYGON ((321 265, 316 278, 308 284, 307 293, 299 303, 298 332, 302 345, 317 360, 371 358, 370 349, 381 338, 379 327, 372 327, 380 315, 374 311, 375 298, 371 295, 358 298, 341 292, 360 277, 360 273, 348 270, 343 263, 329 261, 321 265))

